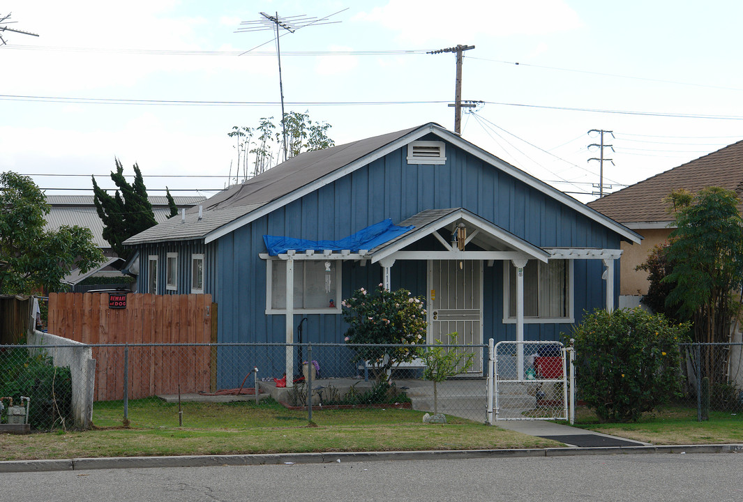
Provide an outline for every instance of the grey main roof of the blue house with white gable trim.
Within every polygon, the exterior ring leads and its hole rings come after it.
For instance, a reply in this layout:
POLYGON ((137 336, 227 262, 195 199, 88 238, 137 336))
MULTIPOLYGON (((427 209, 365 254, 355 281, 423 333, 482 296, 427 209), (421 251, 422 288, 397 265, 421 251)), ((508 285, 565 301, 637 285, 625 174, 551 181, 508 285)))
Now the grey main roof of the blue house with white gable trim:
MULTIPOLYGON (((423 126, 382 134, 329 149, 299 154, 239 186, 230 187, 204 201, 204 217, 201 221, 198 221, 198 225, 183 225, 180 218, 173 218, 134 235, 127 239, 125 244, 201 238, 204 239, 205 243, 215 241, 279 207, 296 201, 322 186, 333 183, 340 177, 368 165, 407 143, 424 137, 426 134, 434 134, 442 140, 447 140, 484 162, 496 166, 507 174, 516 177, 516 179, 527 183, 534 189, 571 206, 571 208, 591 220, 609 227, 614 232, 622 235, 623 238, 635 242, 640 241, 640 236, 635 232, 588 208, 576 199, 565 195, 565 193, 537 180, 520 169, 516 169, 493 154, 473 145, 473 143, 461 139, 457 134, 438 126, 438 124, 427 123, 423 126), (229 214, 235 215, 235 218, 226 221, 227 213, 221 212, 224 209, 233 211, 229 214), (178 229, 178 225, 181 225, 182 228, 178 229)), ((191 213, 186 214, 186 223, 196 221, 194 215, 197 211, 198 209, 192 208, 191 213)))

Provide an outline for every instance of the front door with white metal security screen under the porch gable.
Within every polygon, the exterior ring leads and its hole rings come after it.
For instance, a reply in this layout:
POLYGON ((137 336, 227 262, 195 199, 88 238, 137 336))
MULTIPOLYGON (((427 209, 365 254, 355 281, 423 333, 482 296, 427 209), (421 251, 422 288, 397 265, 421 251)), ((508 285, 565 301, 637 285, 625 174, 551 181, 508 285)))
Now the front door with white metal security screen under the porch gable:
MULTIPOLYGON (((482 261, 429 260, 428 343, 482 344, 482 261)), ((482 349, 457 349, 475 353, 468 373, 482 373, 482 349)))

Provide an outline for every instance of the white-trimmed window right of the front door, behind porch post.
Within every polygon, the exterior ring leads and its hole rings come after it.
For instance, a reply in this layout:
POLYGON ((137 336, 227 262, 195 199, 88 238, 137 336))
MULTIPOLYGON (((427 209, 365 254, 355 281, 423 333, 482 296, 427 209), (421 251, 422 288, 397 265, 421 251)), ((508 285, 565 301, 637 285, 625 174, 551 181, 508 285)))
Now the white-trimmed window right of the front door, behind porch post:
MULTIPOLYGON (((504 322, 516 320, 516 267, 510 261, 504 287, 504 322)), ((573 261, 550 260, 547 263, 529 260, 524 267, 525 322, 572 322, 573 261)))

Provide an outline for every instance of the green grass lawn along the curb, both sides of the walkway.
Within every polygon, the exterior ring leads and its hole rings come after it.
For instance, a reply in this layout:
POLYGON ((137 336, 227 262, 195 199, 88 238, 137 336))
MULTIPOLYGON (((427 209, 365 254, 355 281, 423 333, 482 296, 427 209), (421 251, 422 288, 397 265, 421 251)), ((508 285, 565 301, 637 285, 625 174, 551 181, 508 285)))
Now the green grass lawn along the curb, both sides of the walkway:
MULTIPOLYGON (((0 460, 129 457, 181 454, 361 452, 445 449, 527 449, 560 446, 554 441, 447 417, 447 425, 421 422, 423 412, 403 409, 316 408, 305 411, 272 400, 228 404, 129 402, 129 427, 122 402, 97 402, 91 431, 0 434, 0 460)), ((696 421, 694 408, 665 408, 638 423, 600 424, 579 408, 576 426, 653 444, 743 443, 743 414, 711 412, 696 421)))

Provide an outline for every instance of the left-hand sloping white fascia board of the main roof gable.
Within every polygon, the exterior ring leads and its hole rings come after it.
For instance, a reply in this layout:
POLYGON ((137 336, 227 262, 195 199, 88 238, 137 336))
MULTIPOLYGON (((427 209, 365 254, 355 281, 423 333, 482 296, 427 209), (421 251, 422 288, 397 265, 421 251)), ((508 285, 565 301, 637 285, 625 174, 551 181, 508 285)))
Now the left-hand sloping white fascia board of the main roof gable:
POLYGON ((247 215, 241 216, 240 218, 237 218, 236 220, 230 221, 230 223, 224 226, 221 226, 218 229, 212 230, 212 232, 209 232, 207 235, 204 235, 204 244, 209 244, 211 241, 215 241, 216 239, 222 237, 223 235, 227 235, 228 233, 233 232, 236 229, 239 229, 241 226, 247 225, 252 221, 256 221, 258 218, 262 218, 263 216, 268 215, 269 213, 273 211, 276 211, 276 209, 279 209, 280 207, 285 206, 288 203, 296 201, 297 199, 302 198, 305 195, 308 195, 314 192, 315 190, 321 189, 323 186, 329 185, 330 183, 333 183, 334 181, 339 180, 345 175, 348 175, 349 173, 354 172, 357 169, 360 169, 363 166, 366 166, 367 164, 374 162, 374 160, 380 159, 384 157, 386 154, 389 154, 392 151, 399 149, 401 146, 406 145, 407 143, 410 143, 411 141, 415 141, 419 137, 424 137, 426 134, 429 134, 429 132, 433 132, 433 131, 434 131, 434 126, 430 124, 424 127, 418 128, 415 131, 412 131, 406 134, 405 136, 400 137, 398 140, 395 140, 392 143, 389 143, 389 145, 383 146, 380 149, 374 150, 370 154, 367 154, 364 157, 360 157, 359 159, 346 164, 346 166, 342 167, 341 169, 337 169, 336 171, 331 172, 330 174, 319 178, 319 180, 315 180, 314 182, 309 183, 308 185, 302 186, 302 188, 296 189, 294 192, 291 192, 290 194, 287 194, 282 198, 276 199, 276 201, 267 203, 265 204, 265 206, 261 206, 259 209, 256 209, 255 211, 247 213, 247 215))

